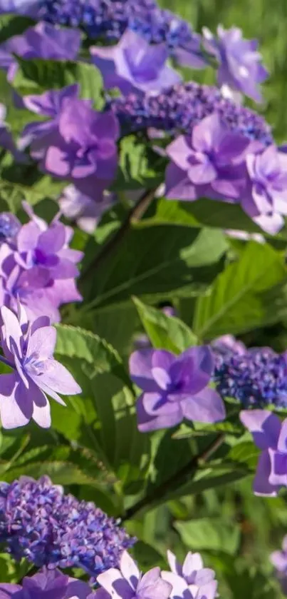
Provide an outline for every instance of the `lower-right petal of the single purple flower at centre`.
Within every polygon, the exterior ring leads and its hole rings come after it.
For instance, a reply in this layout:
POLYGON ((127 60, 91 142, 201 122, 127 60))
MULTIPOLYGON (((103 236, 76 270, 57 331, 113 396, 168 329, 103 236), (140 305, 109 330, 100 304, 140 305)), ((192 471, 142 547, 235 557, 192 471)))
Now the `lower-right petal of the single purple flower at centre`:
POLYGON ((184 418, 191 421, 214 423, 226 418, 224 402, 219 393, 206 387, 191 398, 181 402, 184 418))

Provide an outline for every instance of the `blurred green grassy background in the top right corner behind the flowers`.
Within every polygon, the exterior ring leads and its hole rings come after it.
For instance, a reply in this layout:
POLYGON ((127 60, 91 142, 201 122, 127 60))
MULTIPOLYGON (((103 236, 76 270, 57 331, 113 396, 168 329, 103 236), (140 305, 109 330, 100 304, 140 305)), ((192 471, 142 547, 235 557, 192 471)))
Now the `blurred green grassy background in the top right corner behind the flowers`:
MULTIPOLYGON (((160 4, 180 14, 200 32, 203 26, 216 30, 240 27, 246 38, 259 39, 263 62, 270 78, 263 86, 265 103, 261 111, 273 127, 277 142, 287 140, 287 0, 160 0, 160 4)), ((214 83, 214 71, 186 71, 187 79, 214 83)))

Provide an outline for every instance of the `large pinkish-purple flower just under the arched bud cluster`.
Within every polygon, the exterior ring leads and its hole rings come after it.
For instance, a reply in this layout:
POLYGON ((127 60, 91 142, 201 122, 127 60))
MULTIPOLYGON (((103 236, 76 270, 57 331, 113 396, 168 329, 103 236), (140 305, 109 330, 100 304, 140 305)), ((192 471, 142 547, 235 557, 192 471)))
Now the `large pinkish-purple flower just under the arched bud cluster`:
POLYGON ((194 200, 202 196, 239 199, 246 185, 242 163, 249 139, 229 131, 218 114, 203 119, 191 137, 167 146, 166 196, 194 200))

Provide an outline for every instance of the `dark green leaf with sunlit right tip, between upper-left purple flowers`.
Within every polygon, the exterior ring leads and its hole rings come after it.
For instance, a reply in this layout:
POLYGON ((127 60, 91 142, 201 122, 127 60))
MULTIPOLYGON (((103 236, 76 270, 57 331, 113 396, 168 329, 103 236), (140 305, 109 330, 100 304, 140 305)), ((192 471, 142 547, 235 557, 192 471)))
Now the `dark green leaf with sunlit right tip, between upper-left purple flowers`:
POLYGON ((19 94, 41 94, 48 89, 61 89, 78 84, 80 97, 93 99, 93 106, 102 110, 103 80, 93 64, 73 61, 24 60, 17 57, 19 70, 13 86, 19 94))

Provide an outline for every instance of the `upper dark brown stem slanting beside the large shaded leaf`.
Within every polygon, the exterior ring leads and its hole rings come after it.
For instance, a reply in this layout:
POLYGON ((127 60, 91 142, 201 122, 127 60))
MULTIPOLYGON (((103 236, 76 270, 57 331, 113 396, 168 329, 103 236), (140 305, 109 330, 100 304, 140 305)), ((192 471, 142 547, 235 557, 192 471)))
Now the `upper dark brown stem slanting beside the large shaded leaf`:
POLYGON ((82 273, 80 281, 85 281, 90 275, 93 275, 95 268, 97 268, 100 263, 102 263, 105 258, 107 258, 107 256, 113 252, 120 241, 122 241, 122 238, 125 237, 126 233, 130 231, 132 223, 135 223, 142 218, 142 215, 145 213, 148 206, 150 206, 150 203, 155 196, 155 191, 156 189, 149 189, 148 191, 142 193, 142 196, 140 196, 140 199, 137 201, 135 206, 133 206, 133 208, 127 214, 127 217, 122 222, 122 225, 118 231, 116 231, 115 235, 111 237, 107 243, 105 243, 103 248, 98 252, 97 256, 95 256, 93 262, 91 262, 88 268, 86 268, 86 270, 82 273))

